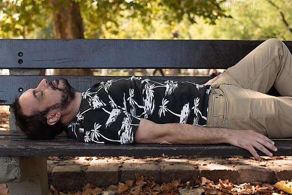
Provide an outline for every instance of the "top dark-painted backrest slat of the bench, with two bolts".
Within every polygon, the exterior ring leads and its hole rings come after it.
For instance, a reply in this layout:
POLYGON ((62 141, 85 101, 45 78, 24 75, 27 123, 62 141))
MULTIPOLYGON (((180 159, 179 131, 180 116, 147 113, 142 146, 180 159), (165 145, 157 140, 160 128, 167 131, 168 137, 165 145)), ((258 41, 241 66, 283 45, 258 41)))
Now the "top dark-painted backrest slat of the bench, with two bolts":
POLYGON ((227 69, 263 41, 0 39, 0 68, 227 69))

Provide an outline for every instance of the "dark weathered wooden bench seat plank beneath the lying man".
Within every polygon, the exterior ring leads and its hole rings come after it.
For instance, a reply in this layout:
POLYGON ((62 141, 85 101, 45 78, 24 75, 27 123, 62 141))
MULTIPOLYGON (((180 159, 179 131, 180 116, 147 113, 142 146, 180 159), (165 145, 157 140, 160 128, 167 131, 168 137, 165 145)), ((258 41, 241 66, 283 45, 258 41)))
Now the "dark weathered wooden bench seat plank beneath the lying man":
MULTIPOLYGON (((292 156, 292 139, 274 139, 274 156, 292 156)), ((261 156, 266 156, 259 153, 261 156)), ((229 144, 98 144, 83 143, 66 136, 52 140, 29 140, 21 132, 0 131, 0 156, 251 156, 229 144), (4 138, 6 137, 6 138, 4 138), (9 138, 7 138, 9 137, 9 138)))

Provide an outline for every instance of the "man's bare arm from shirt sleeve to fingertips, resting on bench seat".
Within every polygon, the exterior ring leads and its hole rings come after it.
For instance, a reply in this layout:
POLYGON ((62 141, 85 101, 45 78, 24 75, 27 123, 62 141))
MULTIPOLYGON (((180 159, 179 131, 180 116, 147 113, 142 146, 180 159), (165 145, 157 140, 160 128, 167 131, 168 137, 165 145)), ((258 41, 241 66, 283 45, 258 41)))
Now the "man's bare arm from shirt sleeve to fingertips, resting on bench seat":
POLYGON ((135 141, 170 144, 229 143, 248 150, 256 160, 260 160, 260 157, 254 147, 268 156, 273 154, 266 148, 277 151, 272 140, 253 130, 201 127, 181 123, 156 124, 146 119, 141 119, 135 141))

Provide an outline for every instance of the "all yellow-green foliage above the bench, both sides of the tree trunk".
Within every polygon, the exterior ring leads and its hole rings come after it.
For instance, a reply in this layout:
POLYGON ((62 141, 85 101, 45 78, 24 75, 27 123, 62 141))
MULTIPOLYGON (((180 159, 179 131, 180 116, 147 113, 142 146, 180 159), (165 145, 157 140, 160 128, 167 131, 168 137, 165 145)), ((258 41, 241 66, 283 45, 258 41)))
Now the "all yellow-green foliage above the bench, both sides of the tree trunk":
MULTIPOLYGON (((0 0, 0 37, 54 38, 60 0, 0 0)), ((292 40, 291 0, 75 0, 85 38, 292 40), (269 1, 279 8, 277 9, 269 1)))

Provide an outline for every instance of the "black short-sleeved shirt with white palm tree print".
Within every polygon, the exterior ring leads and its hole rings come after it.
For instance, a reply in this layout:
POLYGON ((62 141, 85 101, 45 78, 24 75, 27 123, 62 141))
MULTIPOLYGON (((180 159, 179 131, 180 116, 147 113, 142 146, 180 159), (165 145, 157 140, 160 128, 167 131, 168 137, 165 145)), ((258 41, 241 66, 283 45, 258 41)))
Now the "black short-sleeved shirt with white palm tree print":
POLYGON ((65 132, 81 142, 124 144, 135 143, 141 118, 157 124, 206 126, 211 89, 210 85, 135 76, 100 82, 82 93, 65 132))

